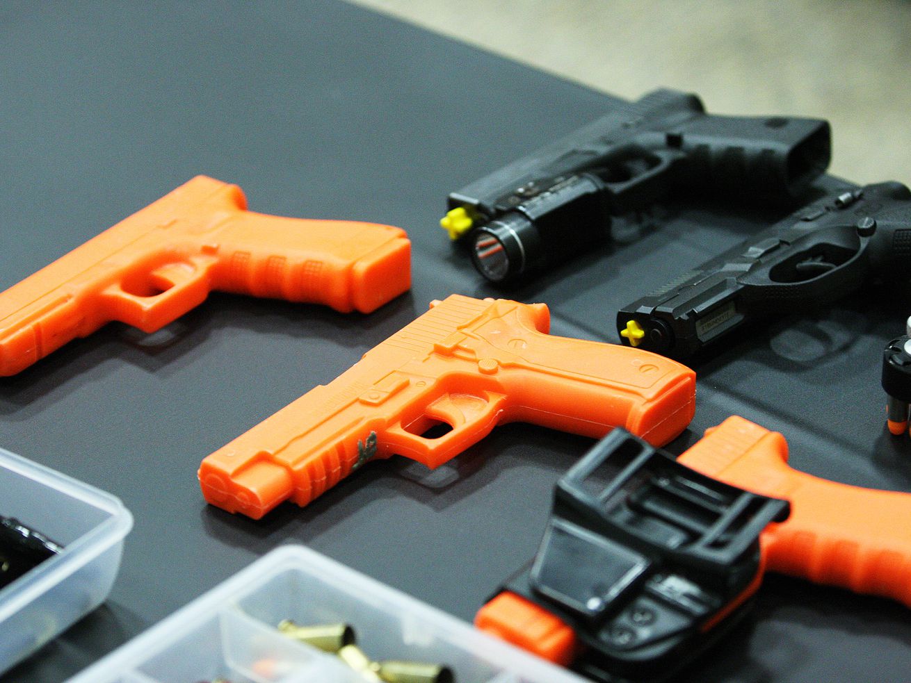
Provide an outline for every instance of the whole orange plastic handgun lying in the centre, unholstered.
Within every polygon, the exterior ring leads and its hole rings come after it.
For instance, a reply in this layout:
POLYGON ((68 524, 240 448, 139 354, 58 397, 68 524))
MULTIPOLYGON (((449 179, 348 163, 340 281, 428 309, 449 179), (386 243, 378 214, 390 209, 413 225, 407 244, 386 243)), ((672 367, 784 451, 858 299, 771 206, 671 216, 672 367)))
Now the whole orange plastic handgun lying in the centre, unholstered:
POLYGON ((512 421, 593 437, 625 426, 661 444, 692 419, 695 373, 678 362, 549 336, 540 303, 453 295, 431 306, 205 458, 206 500, 259 519, 289 498, 307 505, 368 460, 436 467, 512 421))

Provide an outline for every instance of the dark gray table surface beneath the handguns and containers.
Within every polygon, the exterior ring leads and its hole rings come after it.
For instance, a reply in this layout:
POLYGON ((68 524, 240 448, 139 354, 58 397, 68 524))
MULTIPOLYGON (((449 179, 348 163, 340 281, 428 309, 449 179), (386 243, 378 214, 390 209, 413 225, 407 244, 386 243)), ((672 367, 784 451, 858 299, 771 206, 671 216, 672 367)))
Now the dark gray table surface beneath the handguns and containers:
MULTIPOLYGON (((414 243, 412 291, 373 315, 213 294, 150 338, 111 324, 0 382, 0 444, 136 517, 107 604, 5 679, 66 678, 289 542, 471 619, 534 552, 552 486, 588 439, 507 425, 442 475, 396 458, 259 523, 205 505, 196 469, 428 301, 500 293, 436 226, 446 194, 616 100, 328 1, 3 5, 0 92, 0 288, 199 173, 239 184, 254 210, 389 223, 414 243)), ((672 202, 660 214, 660 229, 512 298, 550 304, 554 333, 616 342, 619 306, 783 211, 672 202)), ((878 377, 907 294, 871 285, 813 315, 783 312, 701 363, 696 418, 671 450, 738 413, 782 431, 799 469, 908 490, 911 443, 885 434, 878 377)), ((690 677, 908 671, 906 607, 769 576, 752 617, 690 677)))

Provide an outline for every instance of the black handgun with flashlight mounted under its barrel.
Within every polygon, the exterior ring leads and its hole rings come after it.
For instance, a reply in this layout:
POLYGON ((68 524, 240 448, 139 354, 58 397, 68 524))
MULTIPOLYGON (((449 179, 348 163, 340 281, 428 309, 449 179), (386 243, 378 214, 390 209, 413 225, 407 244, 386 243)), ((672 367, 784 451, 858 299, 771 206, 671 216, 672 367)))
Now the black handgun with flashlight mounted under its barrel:
POLYGON ((440 223, 503 282, 590 250, 611 217, 673 189, 798 198, 830 156, 827 121, 709 115, 695 95, 656 90, 453 192, 440 223))

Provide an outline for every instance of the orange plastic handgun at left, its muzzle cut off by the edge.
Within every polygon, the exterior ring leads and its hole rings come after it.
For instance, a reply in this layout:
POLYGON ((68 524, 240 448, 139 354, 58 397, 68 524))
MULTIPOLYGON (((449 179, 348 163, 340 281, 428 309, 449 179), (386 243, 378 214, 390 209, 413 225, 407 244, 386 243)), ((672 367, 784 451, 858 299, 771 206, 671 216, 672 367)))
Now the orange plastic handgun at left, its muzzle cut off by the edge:
POLYGON ((0 375, 109 321, 157 331, 212 290, 368 313, 411 285, 402 229, 246 209, 197 176, 0 293, 0 375))

